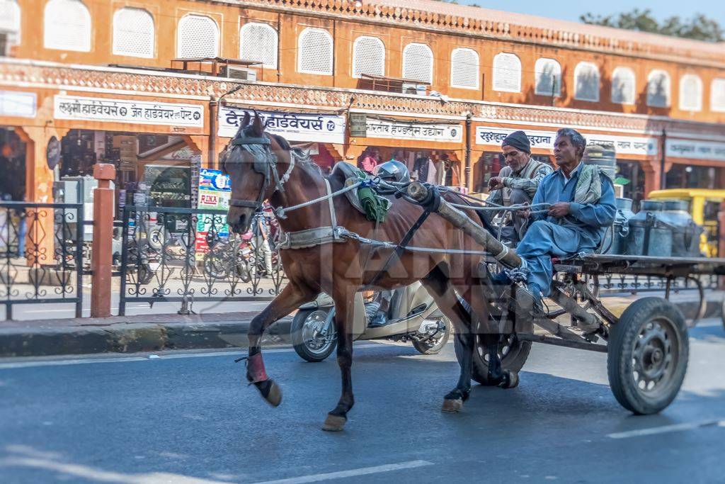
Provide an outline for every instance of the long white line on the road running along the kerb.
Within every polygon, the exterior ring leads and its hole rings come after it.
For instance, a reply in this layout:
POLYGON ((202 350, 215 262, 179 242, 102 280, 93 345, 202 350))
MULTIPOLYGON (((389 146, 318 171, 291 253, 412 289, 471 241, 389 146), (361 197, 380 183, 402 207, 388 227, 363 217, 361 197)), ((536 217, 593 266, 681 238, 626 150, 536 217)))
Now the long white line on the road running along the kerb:
MULTIPOLYGON (((357 343, 355 350, 363 350, 365 348, 390 348, 391 345, 384 343, 357 343)), ((262 353, 267 355, 270 353, 291 353, 294 348, 270 348, 263 349, 262 353)), ((155 354, 155 353, 154 353, 155 354)), ((149 360, 149 355, 144 354, 143 356, 115 356, 115 357, 98 357, 89 356, 86 358, 63 358, 58 356, 49 356, 43 359, 33 358, 31 361, 11 361, 8 363, 0 363, 0 370, 4 369, 18 369, 18 368, 32 368, 35 366, 67 366, 67 365, 82 365, 91 363, 126 363, 128 361, 157 361, 157 360, 173 360, 178 358, 208 358, 210 356, 237 356, 247 355, 247 348, 240 348, 239 350, 229 351, 212 351, 205 353, 167 353, 160 355, 160 358, 154 358, 149 360)), ((12 358, 7 358, 12 359, 12 358)), ((6 360, 7 361, 7 360, 6 360)))

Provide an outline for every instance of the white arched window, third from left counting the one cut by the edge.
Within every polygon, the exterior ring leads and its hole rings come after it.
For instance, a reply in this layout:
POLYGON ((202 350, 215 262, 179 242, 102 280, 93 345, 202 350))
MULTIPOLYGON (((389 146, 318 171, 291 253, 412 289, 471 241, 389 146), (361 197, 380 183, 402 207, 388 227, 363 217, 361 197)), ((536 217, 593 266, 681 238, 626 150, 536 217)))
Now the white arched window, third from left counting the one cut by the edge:
POLYGON ((113 53, 154 57, 154 17, 144 9, 117 10, 113 15, 113 53))

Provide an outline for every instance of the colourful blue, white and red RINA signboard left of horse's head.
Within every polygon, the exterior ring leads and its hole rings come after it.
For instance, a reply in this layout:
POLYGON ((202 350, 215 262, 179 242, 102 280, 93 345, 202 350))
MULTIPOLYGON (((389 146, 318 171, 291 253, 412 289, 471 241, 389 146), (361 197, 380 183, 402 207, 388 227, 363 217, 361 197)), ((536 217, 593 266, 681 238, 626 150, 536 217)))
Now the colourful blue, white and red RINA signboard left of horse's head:
POLYGON ((229 226, 226 223, 226 213, 229 210, 229 199, 231 198, 231 181, 229 176, 220 170, 202 168, 199 171, 199 202, 197 208, 205 210, 219 210, 219 215, 200 213, 196 221, 196 260, 204 259, 204 254, 209 252, 207 235, 212 230, 219 237, 228 237, 229 226))

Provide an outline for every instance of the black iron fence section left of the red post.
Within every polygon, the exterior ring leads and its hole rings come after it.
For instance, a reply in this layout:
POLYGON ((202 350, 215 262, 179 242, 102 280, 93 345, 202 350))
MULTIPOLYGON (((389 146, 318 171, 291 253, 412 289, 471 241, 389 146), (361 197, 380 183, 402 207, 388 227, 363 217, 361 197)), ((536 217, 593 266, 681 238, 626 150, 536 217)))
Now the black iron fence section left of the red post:
POLYGON ((83 205, 0 202, 0 303, 83 308, 83 205))

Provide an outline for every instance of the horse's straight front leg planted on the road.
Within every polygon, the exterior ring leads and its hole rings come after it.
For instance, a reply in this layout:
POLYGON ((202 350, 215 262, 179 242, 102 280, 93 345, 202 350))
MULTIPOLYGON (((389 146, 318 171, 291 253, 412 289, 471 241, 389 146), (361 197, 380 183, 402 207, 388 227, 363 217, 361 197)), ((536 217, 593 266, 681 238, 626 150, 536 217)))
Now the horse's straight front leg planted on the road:
POLYGON ((327 414, 322 430, 339 432, 347 423, 347 412, 355 405, 352 395, 352 326, 355 318, 355 290, 347 287, 334 297, 337 332, 337 364, 340 366, 342 393, 337 406, 327 414))

